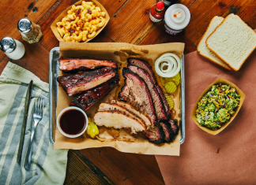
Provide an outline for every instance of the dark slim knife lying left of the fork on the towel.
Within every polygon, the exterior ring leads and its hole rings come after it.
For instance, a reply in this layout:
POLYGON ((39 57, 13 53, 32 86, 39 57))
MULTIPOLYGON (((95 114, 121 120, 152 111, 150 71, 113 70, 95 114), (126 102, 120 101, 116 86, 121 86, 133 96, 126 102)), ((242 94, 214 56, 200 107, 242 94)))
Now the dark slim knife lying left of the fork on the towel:
POLYGON ((24 131, 26 130, 32 84, 33 84, 33 80, 31 80, 29 85, 28 85, 28 90, 27 90, 25 105, 24 105, 24 117, 23 117, 23 123, 22 123, 22 128, 21 128, 21 139, 20 139, 20 145, 19 145, 18 154, 17 154, 17 162, 19 164, 21 162, 21 154, 22 154, 22 148, 23 148, 23 142, 24 142, 24 131))

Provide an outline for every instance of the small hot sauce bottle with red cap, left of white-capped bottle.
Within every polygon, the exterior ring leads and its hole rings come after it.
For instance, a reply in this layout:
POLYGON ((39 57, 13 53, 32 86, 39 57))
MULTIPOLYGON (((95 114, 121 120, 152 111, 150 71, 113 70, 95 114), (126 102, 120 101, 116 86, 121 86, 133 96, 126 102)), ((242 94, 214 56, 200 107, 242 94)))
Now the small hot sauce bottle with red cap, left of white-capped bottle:
POLYGON ((164 19, 164 2, 157 2, 155 5, 152 6, 149 12, 150 20, 154 23, 158 23, 164 19))

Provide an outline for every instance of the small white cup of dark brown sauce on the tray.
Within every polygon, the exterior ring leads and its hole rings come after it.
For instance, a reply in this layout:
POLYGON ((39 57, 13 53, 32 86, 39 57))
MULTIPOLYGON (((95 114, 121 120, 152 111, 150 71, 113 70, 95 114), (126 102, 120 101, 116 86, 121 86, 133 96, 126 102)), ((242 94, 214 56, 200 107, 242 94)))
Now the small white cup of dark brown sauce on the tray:
POLYGON ((83 135, 88 126, 88 117, 82 109, 70 106, 58 114, 58 130, 68 138, 83 135))

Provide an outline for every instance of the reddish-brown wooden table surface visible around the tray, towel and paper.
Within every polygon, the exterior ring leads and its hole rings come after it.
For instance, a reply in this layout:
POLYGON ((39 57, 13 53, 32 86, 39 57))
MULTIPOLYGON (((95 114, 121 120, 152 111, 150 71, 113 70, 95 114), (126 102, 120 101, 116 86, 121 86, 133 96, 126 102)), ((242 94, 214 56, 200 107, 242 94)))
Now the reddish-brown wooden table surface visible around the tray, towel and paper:
MULTIPOLYGON (((49 81, 49 51, 58 46, 50 26, 56 17, 76 0, 13 0, 0 2, 0 39, 10 36, 21 40, 17 21, 22 17, 40 24, 43 38, 39 43, 24 43, 26 53, 21 60, 12 61, 49 81), (37 8, 37 11, 36 9, 37 8)), ((214 16, 239 15, 251 28, 256 28, 254 0, 180 0, 190 9, 191 20, 179 36, 165 33, 164 24, 149 20, 149 9, 156 0, 99 0, 111 20, 93 43, 185 43, 185 54, 196 50, 201 36, 214 16)), ((9 60, 0 52, 0 73, 9 60)), ((183 146, 181 146, 183 152, 183 146)), ((124 154, 113 148, 70 150, 66 184, 164 184, 154 156, 124 154)))

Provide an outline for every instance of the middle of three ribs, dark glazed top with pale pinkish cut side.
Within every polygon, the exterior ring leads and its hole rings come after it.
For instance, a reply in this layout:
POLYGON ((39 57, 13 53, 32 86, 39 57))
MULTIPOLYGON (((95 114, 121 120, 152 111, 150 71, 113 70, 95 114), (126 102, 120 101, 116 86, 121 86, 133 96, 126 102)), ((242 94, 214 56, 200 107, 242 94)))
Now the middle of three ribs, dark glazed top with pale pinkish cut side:
POLYGON ((107 82, 114 76, 116 76, 115 69, 107 67, 73 75, 58 76, 57 81, 62 85, 66 94, 72 96, 107 82))

